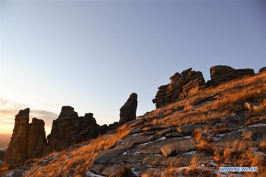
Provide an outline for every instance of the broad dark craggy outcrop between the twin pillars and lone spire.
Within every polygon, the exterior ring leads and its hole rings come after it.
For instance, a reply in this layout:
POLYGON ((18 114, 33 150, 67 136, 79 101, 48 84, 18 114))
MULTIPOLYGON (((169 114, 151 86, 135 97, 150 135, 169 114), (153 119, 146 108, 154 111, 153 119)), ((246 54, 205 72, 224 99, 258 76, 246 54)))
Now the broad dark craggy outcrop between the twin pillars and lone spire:
POLYGON ((63 106, 56 120, 53 120, 46 153, 68 148, 103 133, 107 125, 99 126, 92 113, 79 117, 71 106, 63 106))

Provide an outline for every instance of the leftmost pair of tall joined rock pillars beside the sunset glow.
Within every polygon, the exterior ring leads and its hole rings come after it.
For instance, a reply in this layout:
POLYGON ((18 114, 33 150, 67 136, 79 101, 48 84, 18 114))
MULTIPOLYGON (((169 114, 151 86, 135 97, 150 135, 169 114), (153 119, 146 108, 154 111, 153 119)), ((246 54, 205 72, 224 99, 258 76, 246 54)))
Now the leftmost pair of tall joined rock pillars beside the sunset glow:
POLYGON ((30 108, 20 110, 15 116, 11 141, 7 148, 6 162, 20 163, 42 154, 45 142, 44 122, 33 118, 29 124, 30 108))

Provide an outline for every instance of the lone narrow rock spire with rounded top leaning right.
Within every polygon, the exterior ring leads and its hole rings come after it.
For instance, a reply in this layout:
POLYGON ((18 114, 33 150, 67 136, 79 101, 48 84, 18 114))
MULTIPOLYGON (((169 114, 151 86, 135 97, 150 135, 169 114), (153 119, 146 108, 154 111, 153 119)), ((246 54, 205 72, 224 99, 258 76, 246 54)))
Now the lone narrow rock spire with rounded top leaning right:
POLYGON ((132 93, 125 104, 120 108, 120 119, 119 122, 129 122, 131 120, 137 119, 136 111, 138 106, 138 95, 132 93))

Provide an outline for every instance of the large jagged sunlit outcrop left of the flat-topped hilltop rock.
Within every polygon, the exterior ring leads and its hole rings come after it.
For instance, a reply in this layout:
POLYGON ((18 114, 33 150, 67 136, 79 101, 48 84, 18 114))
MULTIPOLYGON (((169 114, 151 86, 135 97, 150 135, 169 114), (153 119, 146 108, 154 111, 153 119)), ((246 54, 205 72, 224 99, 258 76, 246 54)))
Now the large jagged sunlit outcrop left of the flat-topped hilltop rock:
POLYGON ((173 103, 180 98, 191 96, 207 87, 202 73, 191 70, 192 68, 188 68, 181 74, 175 73, 170 77, 171 83, 159 86, 155 99, 152 100, 156 108, 173 103))

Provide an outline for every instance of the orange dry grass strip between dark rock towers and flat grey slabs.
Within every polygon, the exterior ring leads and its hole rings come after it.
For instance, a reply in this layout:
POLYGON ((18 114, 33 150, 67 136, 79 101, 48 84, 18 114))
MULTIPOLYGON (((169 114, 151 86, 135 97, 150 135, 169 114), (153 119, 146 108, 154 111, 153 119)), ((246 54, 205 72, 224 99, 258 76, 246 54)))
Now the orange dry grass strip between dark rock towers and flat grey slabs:
POLYGON ((42 166, 43 160, 57 155, 54 152, 45 159, 39 159, 36 166, 29 172, 29 176, 86 176, 88 164, 98 152, 107 150, 115 145, 116 142, 128 135, 128 127, 125 125, 117 129, 117 133, 107 139, 103 136, 90 141, 90 144, 82 146, 70 152, 60 152, 60 156, 50 160, 47 165, 42 166))

